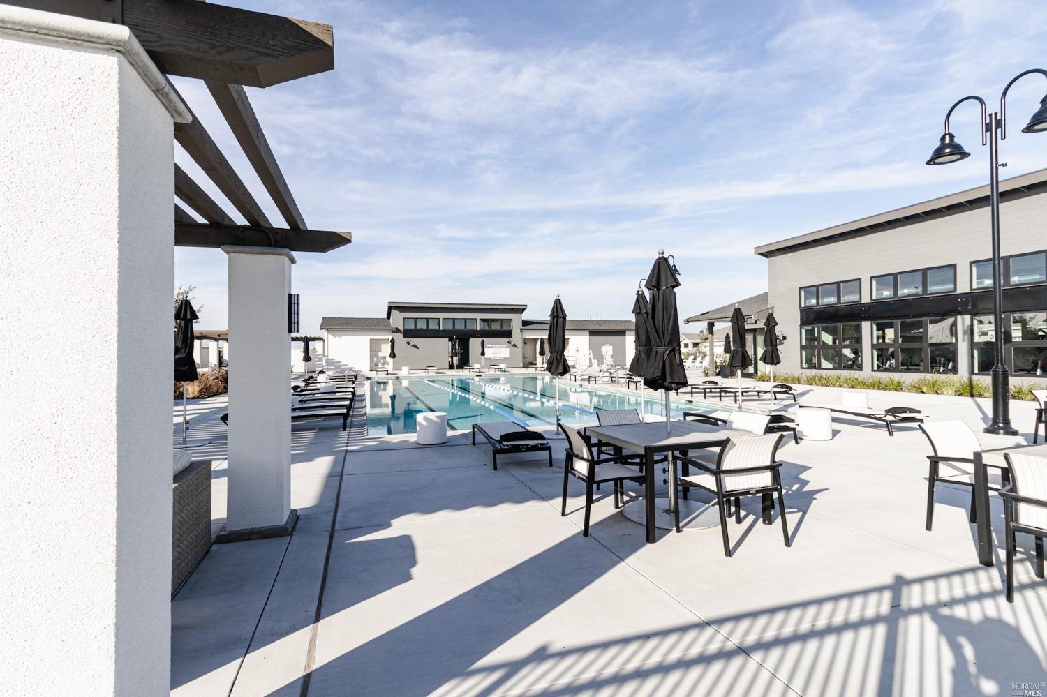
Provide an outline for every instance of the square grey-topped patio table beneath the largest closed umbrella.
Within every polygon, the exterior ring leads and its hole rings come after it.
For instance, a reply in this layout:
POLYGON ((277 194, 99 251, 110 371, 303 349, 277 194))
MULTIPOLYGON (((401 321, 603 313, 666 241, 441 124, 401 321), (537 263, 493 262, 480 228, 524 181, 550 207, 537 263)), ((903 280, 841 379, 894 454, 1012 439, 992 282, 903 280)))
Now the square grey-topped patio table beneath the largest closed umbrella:
MULTIPOLYGON (((719 448, 728 439, 740 439, 752 433, 730 428, 701 424, 694 421, 670 422, 670 432, 665 432, 665 422, 654 421, 641 424, 622 424, 618 426, 587 426, 585 434, 591 439, 615 445, 632 452, 644 454, 644 523, 647 527, 647 541, 655 540, 655 498, 654 498, 654 457, 669 454, 669 467, 674 468, 672 453, 703 448, 719 448)), ((670 477, 671 480, 672 477, 670 477)), ((670 485, 671 492, 671 485, 670 485)), ((670 500, 675 500, 671 495, 670 500)))

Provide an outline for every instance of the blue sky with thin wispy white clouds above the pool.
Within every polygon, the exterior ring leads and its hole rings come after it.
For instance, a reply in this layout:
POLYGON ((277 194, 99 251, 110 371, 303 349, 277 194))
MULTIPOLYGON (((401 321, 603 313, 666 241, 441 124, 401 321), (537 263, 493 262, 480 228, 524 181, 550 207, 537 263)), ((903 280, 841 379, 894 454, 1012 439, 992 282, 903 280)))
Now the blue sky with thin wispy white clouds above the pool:
MULTIPOLYGON (((333 72, 249 89, 306 222, 354 234, 297 254, 308 331, 388 300, 624 318, 660 247, 685 316, 761 292, 756 245, 984 184, 971 105, 973 156, 923 164, 945 110, 1047 63, 1033 0, 233 4, 335 27, 333 72)), ((279 224, 206 89, 176 82, 279 224)), ((1020 133, 1045 92, 1011 90, 1005 177, 1047 166, 1020 133)), ((225 278, 221 251, 178 249, 201 327, 225 328, 225 278)))

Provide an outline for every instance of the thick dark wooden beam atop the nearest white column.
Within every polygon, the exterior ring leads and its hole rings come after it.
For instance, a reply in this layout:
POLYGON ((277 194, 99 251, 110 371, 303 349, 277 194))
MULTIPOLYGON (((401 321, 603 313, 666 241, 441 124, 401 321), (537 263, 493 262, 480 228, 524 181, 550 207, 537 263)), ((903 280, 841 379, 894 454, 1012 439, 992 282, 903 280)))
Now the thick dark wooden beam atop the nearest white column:
POLYGON ((162 72, 270 87, 334 69, 330 24, 197 0, 5 0, 127 25, 162 72))

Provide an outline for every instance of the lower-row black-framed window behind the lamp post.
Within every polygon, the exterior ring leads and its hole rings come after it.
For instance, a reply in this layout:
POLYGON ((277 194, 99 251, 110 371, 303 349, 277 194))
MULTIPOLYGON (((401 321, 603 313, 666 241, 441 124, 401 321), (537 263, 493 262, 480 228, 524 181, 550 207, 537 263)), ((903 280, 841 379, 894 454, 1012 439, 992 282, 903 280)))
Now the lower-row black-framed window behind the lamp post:
MULTIPOLYGON (((1047 375, 1047 312, 1012 312, 1003 316, 1004 356, 1013 375, 1047 375)), ((975 315, 971 325, 975 373, 990 373, 996 364, 993 315, 975 315)))

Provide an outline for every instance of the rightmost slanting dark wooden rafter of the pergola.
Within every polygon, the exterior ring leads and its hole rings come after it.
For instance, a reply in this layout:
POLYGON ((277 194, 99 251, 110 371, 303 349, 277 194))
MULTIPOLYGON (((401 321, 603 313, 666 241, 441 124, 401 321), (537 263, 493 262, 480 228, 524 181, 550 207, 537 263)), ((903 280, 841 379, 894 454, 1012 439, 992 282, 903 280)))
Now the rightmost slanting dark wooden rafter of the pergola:
POLYGON ((287 226, 292 230, 305 229, 306 221, 298 210, 298 204, 294 202, 294 196, 284 179, 272 149, 269 148, 269 141, 262 131, 258 116, 254 115, 247 92, 240 85, 227 85, 211 80, 206 81, 206 84, 232 135, 237 137, 259 179, 272 197, 280 215, 287 221, 287 226))

